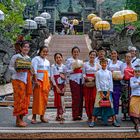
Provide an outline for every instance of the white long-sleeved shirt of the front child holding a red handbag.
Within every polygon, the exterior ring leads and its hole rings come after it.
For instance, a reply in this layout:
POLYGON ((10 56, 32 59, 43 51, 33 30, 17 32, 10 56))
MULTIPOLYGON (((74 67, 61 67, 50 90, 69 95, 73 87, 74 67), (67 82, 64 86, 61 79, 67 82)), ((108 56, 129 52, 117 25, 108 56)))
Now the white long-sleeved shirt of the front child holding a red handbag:
POLYGON ((96 88, 97 91, 112 91, 113 92, 113 81, 112 73, 109 70, 100 69, 96 73, 96 88))

